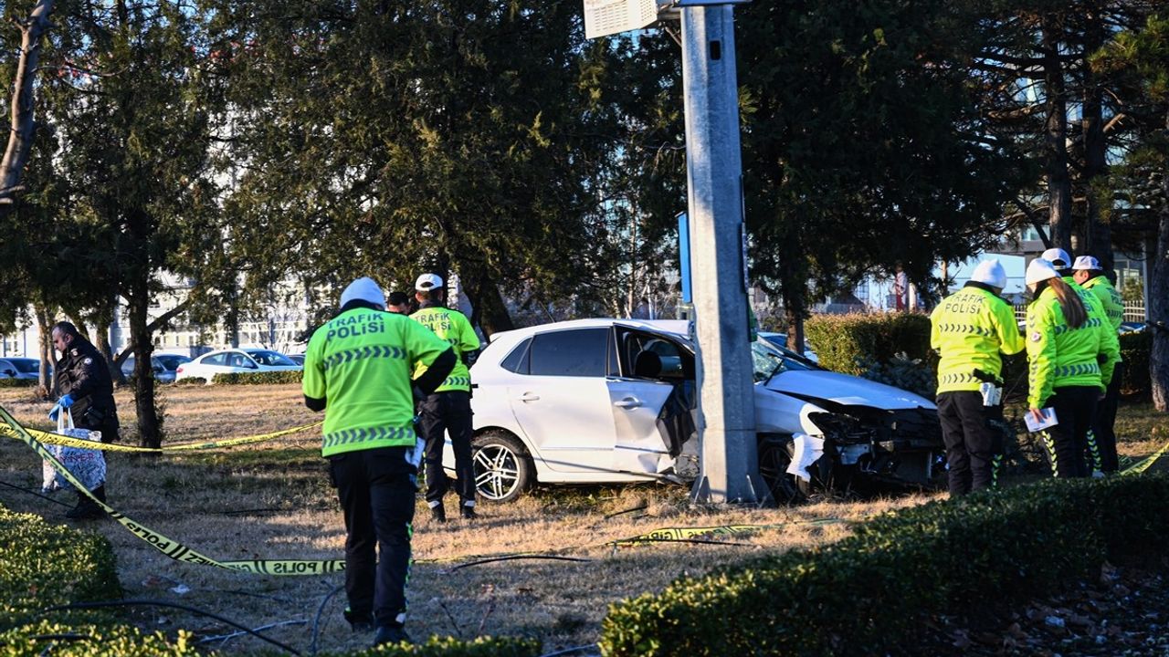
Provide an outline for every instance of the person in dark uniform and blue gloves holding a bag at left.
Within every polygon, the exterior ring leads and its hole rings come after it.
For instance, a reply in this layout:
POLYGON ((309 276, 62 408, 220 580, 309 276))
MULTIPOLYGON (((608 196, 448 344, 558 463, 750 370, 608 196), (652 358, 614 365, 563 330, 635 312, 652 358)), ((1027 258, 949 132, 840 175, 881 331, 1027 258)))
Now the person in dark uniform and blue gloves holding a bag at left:
MULTIPOLYGON (((74 426, 102 433, 103 443, 118 441, 118 408, 113 402, 113 379, 105 358, 89 340, 68 321, 53 325, 53 346, 61 352, 56 365, 56 389, 61 397, 49 412, 49 419, 69 409, 74 426)), ((105 484, 92 491, 94 497, 105 502, 105 484)), ((75 520, 95 519, 103 516, 102 507, 88 496, 77 492, 77 505, 65 513, 75 520)))

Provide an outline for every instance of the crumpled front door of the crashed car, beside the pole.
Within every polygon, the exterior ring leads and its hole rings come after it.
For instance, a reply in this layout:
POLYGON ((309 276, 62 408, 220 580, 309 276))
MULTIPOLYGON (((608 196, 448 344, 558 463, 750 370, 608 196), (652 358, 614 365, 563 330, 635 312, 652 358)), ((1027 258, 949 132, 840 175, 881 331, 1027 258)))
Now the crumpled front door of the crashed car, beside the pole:
POLYGON ((607 382, 615 427, 613 468, 664 472, 690 437, 690 419, 678 422, 677 416, 691 413, 693 357, 670 338, 642 330, 618 326, 615 341, 621 375, 607 382), (677 433, 686 435, 672 435, 677 433))

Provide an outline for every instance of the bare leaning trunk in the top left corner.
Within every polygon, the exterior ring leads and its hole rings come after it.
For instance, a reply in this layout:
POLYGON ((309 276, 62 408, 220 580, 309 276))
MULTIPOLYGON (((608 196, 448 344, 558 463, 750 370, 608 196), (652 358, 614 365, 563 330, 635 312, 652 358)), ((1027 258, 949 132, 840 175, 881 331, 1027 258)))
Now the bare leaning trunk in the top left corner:
POLYGON ((8 147, 0 161, 0 203, 12 203, 20 191, 20 179, 33 148, 33 132, 36 120, 35 104, 36 65, 41 58, 41 37, 49 28, 49 14, 54 0, 40 0, 27 21, 20 23, 20 58, 12 88, 12 120, 8 126, 8 147))

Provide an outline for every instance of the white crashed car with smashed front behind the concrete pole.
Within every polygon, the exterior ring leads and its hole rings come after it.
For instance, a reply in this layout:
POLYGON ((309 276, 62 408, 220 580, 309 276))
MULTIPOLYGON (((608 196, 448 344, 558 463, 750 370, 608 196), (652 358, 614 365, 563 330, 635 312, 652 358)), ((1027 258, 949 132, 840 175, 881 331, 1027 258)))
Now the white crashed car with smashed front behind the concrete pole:
MULTIPOLYGON (((752 355, 760 473, 779 500, 857 475, 934 479, 945 450, 932 402, 762 340, 752 355), (788 472, 797 443, 808 456, 791 470, 810 480, 788 472)), ((497 333, 471 380, 476 487, 487 500, 512 500, 535 483, 698 475, 685 321, 582 319, 497 333)), ((454 472, 449 438, 443 464, 454 472)))

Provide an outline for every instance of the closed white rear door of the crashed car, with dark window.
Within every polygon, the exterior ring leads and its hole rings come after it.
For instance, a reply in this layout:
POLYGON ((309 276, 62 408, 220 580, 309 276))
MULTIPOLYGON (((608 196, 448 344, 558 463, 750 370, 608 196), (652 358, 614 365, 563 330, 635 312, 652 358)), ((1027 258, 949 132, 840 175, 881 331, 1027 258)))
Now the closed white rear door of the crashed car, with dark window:
POLYGON ((507 385, 512 413, 552 470, 608 472, 614 424, 606 375, 611 328, 594 326, 537 333, 507 385))

